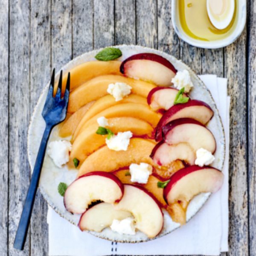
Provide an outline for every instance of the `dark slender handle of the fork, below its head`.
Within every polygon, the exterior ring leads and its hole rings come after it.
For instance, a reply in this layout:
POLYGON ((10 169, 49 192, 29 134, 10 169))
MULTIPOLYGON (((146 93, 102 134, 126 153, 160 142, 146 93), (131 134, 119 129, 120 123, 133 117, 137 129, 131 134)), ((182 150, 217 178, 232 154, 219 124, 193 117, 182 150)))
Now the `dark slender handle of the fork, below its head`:
POLYGON ((32 209, 35 201, 35 196, 40 179, 41 169, 44 162, 44 155, 46 150, 49 134, 52 131, 52 125, 47 125, 44 131, 44 136, 41 141, 41 145, 38 151, 38 156, 35 161, 35 167, 32 174, 32 178, 29 185, 29 190, 26 196, 26 201, 23 207, 22 215, 20 218, 19 227, 16 233, 13 247, 17 250, 23 250, 26 241, 27 232, 29 229, 29 221, 32 214, 32 209))

